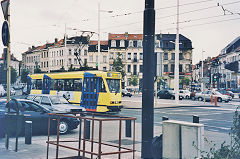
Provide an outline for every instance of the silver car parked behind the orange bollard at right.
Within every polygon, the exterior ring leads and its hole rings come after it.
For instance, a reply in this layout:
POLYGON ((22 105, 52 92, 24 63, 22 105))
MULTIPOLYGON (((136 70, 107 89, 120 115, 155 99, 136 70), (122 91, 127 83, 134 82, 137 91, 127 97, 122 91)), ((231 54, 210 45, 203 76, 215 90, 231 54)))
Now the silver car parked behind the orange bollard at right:
POLYGON ((211 95, 213 96, 213 99, 215 99, 215 97, 217 97, 218 102, 225 101, 227 103, 230 100, 232 100, 231 96, 223 95, 223 94, 219 93, 218 91, 211 92, 209 90, 205 91, 205 93, 203 93, 203 92, 196 93, 195 99, 198 99, 199 101, 203 101, 205 98, 205 101, 211 101, 211 95))

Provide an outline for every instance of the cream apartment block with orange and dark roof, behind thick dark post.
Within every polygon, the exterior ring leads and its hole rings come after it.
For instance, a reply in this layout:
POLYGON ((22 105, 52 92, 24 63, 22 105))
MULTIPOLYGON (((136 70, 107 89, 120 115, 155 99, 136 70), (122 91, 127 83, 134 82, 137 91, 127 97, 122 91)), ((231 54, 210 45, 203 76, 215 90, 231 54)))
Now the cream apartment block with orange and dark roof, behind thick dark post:
MULTIPOLYGON (((175 34, 157 34, 155 37, 155 53, 160 53, 160 56, 158 56, 160 58, 160 74, 170 88, 174 87, 175 45, 172 42, 174 42, 175 39, 175 34)), ((128 88, 138 87, 130 86, 129 81, 132 76, 137 76, 138 83, 141 83, 143 73, 142 42, 143 34, 125 33, 108 35, 110 70, 114 59, 117 57, 117 54, 120 53, 126 72, 123 81, 125 81, 125 86, 128 88)), ((180 43, 180 78, 189 77, 189 79, 191 79, 192 43, 191 40, 183 35, 180 35, 180 43)))

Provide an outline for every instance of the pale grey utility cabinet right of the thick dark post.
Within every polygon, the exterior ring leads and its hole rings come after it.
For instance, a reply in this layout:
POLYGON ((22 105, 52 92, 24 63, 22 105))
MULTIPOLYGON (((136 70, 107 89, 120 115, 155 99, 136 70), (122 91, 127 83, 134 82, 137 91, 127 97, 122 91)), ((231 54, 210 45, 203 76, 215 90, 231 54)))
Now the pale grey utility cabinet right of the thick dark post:
POLYGON ((163 158, 201 157, 204 125, 176 120, 163 122, 163 158))

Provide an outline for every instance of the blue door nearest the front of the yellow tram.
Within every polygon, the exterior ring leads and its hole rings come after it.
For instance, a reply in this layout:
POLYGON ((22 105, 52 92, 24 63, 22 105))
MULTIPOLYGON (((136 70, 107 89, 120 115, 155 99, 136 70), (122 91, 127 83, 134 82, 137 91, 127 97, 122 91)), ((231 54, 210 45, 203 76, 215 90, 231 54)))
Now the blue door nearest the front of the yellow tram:
POLYGON ((87 111, 97 110, 99 96, 99 79, 99 77, 94 77, 93 74, 84 74, 81 106, 85 107, 87 111))

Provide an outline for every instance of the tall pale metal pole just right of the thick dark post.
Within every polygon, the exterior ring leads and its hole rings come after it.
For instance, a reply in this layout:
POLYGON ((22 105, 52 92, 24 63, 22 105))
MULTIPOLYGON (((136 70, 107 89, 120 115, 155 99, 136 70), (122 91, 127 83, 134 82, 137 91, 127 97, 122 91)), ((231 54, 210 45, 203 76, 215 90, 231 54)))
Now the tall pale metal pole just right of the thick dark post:
POLYGON ((175 73, 174 73, 175 103, 179 104, 179 0, 177 0, 177 34, 175 41, 175 73))

